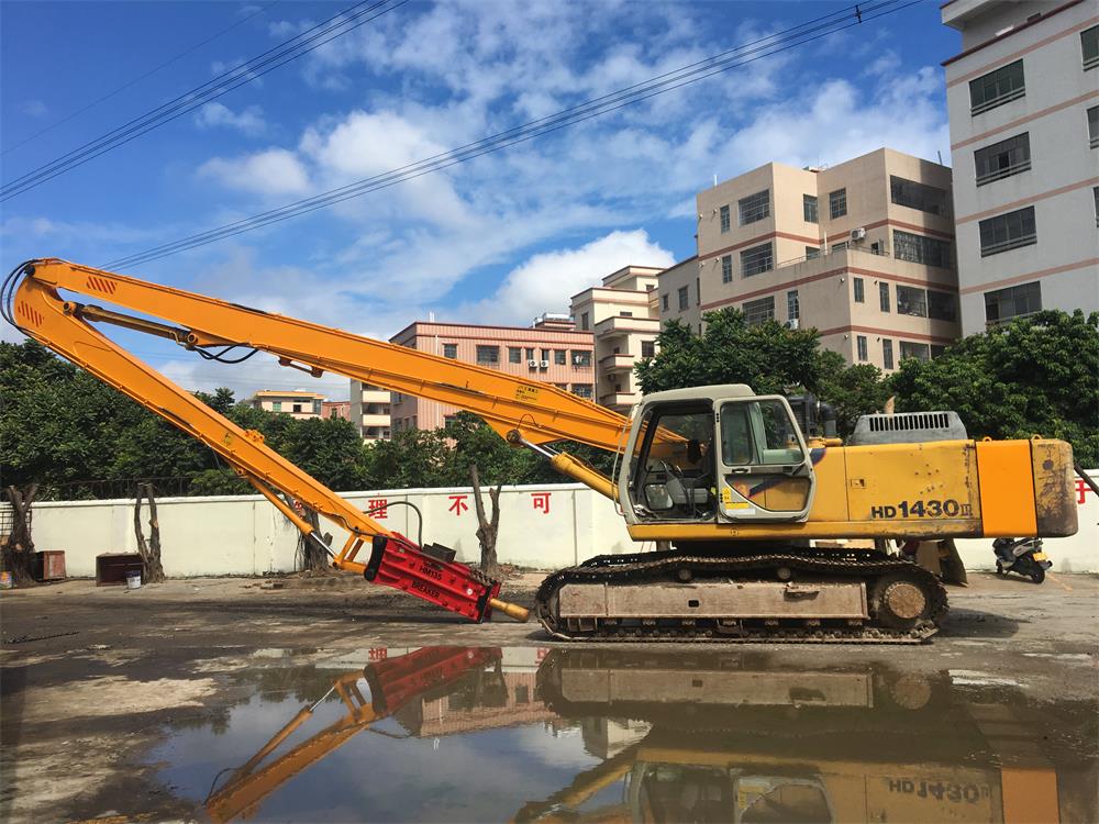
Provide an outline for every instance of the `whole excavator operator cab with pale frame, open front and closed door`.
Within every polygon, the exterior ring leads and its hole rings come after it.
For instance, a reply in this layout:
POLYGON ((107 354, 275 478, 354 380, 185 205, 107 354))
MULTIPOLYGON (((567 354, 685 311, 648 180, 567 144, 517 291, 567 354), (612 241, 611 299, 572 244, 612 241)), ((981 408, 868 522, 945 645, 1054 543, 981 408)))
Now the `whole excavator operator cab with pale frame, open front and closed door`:
POLYGON ((789 402, 743 385, 676 389, 639 408, 619 494, 634 523, 804 521, 812 458, 789 402))

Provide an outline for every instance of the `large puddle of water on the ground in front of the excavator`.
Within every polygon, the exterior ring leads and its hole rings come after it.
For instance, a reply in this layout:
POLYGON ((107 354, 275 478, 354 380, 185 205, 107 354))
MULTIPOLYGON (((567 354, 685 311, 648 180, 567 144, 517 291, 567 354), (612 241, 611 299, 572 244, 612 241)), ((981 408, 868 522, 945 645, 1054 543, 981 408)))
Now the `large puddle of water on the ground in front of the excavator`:
MULTIPOLYGON (((767 653, 424 647, 247 670, 158 778, 218 822, 1097 821, 1096 712, 767 653)), ((969 673, 972 675, 972 673, 969 673)))

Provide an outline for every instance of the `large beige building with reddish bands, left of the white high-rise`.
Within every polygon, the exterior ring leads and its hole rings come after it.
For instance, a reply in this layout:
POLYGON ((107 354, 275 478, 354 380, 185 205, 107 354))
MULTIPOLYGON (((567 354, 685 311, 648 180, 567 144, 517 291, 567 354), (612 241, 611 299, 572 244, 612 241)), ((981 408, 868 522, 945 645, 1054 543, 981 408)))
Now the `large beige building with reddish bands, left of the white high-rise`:
MULTIPOLYGON (((814 326, 822 346, 886 371, 958 337, 945 166, 888 148, 821 169, 770 163, 697 203, 701 312, 814 326)), ((662 309, 667 294, 688 313, 690 265, 676 267, 674 294, 660 277, 662 309)))

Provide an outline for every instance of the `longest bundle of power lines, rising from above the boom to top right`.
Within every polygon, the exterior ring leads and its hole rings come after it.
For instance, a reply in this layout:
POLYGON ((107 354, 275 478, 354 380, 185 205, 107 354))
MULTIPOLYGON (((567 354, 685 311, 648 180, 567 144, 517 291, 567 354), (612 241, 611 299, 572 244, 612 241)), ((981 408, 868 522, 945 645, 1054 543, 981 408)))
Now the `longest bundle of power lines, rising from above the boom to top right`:
POLYGON ((304 198, 251 218, 244 218, 179 241, 162 244, 160 246, 112 260, 104 264, 104 268, 130 267, 157 260, 179 252, 204 246, 220 240, 279 223, 284 220, 308 214, 319 209, 325 209, 345 200, 362 197, 379 189, 386 189, 434 171, 441 171, 459 163, 480 157, 481 155, 551 134, 592 118, 617 111, 626 105, 647 100, 648 98, 699 82, 714 75, 763 59, 764 57, 804 45, 830 34, 859 25, 862 22, 896 13, 910 5, 914 5, 919 1, 908 0, 907 2, 901 2, 901 0, 884 0, 882 2, 872 2, 866 5, 859 3, 847 7, 678 69, 657 75, 648 80, 587 100, 555 114, 499 132, 480 141, 442 152, 432 157, 390 169, 389 171, 347 183, 346 186, 331 189, 321 194, 304 198))

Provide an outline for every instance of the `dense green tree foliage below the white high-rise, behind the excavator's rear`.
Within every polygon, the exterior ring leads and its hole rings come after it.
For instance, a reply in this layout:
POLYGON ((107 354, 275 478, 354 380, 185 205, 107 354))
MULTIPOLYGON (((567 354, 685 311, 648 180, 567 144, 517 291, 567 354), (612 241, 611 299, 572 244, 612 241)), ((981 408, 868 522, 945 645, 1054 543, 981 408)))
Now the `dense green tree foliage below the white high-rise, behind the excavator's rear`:
POLYGON ((970 437, 1034 434, 1099 466, 1099 313, 1044 311, 970 335, 890 378, 898 412, 953 410, 970 437))

